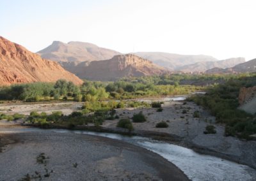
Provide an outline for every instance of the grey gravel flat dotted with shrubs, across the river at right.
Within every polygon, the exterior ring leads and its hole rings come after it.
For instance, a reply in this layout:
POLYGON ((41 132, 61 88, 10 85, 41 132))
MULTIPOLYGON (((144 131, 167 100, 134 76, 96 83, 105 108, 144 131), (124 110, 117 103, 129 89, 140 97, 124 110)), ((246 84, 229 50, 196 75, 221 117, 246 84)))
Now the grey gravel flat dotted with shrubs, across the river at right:
MULTIPOLYGON (((177 144, 193 148, 204 154, 223 157, 248 164, 256 168, 256 141, 243 141, 232 136, 224 136, 225 126, 215 124, 215 117, 203 110, 195 103, 183 101, 164 102, 163 112, 157 112, 157 108, 138 108, 116 110, 120 118, 131 119, 134 113, 143 112, 147 122, 132 123, 135 133, 153 131, 154 133, 167 133, 179 136, 181 141, 177 144), (182 113, 186 110, 187 113, 182 113), (200 118, 194 118, 193 113, 200 112, 200 118), (157 122, 165 121, 167 128, 157 128, 157 122), (216 127, 216 134, 204 134, 205 126, 212 124, 216 127)), ((115 129, 118 120, 106 120, 103 127, 115 129)))

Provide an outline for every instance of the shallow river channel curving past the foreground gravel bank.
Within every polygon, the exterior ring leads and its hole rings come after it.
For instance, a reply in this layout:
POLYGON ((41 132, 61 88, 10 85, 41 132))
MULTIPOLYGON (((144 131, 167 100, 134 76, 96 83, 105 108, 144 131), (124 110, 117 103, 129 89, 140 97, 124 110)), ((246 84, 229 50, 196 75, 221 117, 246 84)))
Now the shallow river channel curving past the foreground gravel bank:
POLYGON ((256 170, 219 157, 198 154, 189 148, 156 141, 141 136, 124 136, 113 133, 97 133, 92 131, 70 131, 65 129, 0 129, 1 132, 22 133, 26 131, 54 131, 56 133, 90 134, 104 136, 114 140, 125 141, 139 147, 147 148, 175 164, 191 180, 256 180, 256 170))

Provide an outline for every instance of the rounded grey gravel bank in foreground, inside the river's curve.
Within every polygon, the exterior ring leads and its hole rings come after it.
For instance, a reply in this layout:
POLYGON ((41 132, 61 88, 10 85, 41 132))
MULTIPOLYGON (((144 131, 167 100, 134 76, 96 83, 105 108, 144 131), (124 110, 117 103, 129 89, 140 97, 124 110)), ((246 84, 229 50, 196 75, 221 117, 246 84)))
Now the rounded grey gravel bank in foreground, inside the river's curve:
POLYGON ((163 157, 118 140, 51 131, 3 138, 15 142, 0 153, 0 180, 189 180, 163 157))

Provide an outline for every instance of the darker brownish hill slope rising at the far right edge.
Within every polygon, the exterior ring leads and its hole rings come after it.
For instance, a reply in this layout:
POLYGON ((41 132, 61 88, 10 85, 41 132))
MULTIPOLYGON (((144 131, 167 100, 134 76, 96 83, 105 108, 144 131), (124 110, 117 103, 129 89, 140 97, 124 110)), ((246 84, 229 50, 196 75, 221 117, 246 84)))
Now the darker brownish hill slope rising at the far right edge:
POLYGON ((236 66, 232 68, 226 68, 226 69, 208 69, 205 71, 205 73, 209 74, 221 74, 221 73, 246 73, 246 72, 256 72, 256 59, 253 59, 251 61, 243 62, 241 64, 237 64, 236 66))

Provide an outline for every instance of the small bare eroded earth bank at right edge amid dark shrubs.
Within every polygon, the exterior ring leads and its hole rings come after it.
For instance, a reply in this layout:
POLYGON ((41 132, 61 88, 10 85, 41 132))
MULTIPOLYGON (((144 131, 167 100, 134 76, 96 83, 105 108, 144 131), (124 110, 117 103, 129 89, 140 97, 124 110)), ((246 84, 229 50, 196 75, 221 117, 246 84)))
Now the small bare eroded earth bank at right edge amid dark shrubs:
MULTIPOLYGON (((239 92, 239 104, 243 105, 244 103, 250 101, 256 96, 256 86, 254 87, 242 87, 239 92)), ((256 108, 255 108, 256 109, 256 108)))

